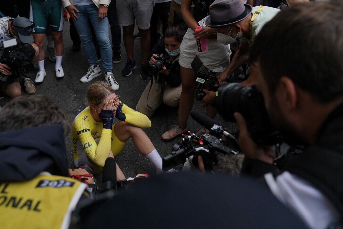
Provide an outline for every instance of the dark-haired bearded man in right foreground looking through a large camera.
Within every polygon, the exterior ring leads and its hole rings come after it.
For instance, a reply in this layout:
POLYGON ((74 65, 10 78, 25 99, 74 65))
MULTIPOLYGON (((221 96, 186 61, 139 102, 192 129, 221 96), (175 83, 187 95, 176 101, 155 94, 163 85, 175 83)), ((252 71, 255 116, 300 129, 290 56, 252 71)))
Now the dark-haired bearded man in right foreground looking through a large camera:
POLYGON ((342 227, 342 8, 341 2, 316 2, 281 11, 251 49, 257 88, 227 84, 218 92, 218 112, 234 115, 238 123, 242 172, 263 175, 271 192, 309 228, 342 227), (307 146, 283 171, 276 170, 271 147, 256 142, 250 128, 264 107, 285 142, 307 146))

